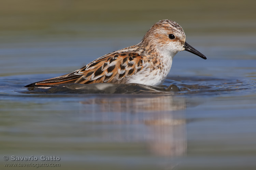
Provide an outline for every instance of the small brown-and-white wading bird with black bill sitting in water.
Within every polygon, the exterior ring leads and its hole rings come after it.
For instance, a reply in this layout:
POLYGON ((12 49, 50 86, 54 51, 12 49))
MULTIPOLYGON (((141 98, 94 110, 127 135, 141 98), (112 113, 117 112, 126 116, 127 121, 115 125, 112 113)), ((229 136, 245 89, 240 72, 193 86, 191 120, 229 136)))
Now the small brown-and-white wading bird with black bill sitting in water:
POLYGON ((29 84, 49 88, 60 84, 140 83, 157 86, 165 81, 172 59, 179 51, 206 57, 186 43, 183 29, 174 21, 161 20, 137 45, 106 54, 72 73, 29 84))

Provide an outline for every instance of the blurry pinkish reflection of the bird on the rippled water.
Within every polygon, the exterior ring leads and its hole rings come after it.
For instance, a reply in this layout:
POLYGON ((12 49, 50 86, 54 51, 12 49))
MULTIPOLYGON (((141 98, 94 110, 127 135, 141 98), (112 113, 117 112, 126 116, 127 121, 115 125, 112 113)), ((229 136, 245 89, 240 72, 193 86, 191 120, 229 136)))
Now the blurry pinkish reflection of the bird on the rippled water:
POLYGON ((102 124, 103 140, 146 142, 154 155, 177 156, 186 153, 184 98, 172 96, 134 96, 127 98, 93 98, 81 102, 83 120, 102 124), (132 114, 129 114, 132 113, 132 114), (108 125, 118 128, 108 129, 108 125), (105 132, 107 131, 107 132, 105 132))

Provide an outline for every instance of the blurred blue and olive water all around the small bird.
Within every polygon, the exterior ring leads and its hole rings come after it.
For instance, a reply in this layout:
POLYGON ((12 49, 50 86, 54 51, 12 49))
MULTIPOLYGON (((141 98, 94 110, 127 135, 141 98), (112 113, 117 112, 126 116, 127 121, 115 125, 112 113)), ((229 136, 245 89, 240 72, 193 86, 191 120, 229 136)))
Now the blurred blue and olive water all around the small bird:
POLYGON ((61 169, 255 169, 255 6, 0 0, 0 166, 14 163, 4 155, 56 155, 61 169), (185 92, 21 93, 139 43, 162 19, 179 23, 188 44, 208 58, 186 51, 174 57, 165 85, 185 92))

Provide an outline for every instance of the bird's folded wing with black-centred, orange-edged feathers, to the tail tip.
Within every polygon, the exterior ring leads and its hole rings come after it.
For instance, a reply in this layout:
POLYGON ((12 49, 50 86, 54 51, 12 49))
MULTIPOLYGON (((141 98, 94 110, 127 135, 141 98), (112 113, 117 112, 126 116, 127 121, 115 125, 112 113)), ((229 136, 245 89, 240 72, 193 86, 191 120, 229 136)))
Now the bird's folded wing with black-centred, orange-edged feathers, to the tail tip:
POLYGON ((125 83, 143 68, 143 56, 134 52, 114 52, 104 55, 83 68, 25 87, 48 88, 60 84, 125 83))

